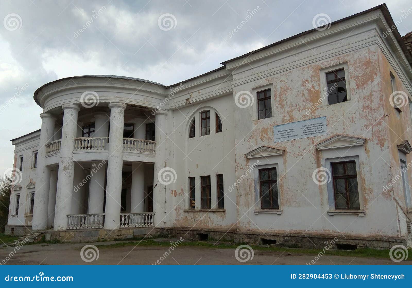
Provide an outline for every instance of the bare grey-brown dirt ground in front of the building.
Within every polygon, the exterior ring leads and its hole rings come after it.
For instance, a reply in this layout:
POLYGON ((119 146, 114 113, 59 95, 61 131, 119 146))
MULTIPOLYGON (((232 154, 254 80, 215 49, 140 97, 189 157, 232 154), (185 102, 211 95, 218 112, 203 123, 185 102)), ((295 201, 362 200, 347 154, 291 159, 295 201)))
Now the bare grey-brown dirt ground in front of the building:
MULTIPOLYGON (((294 265, 311 262, 316 255, 303 255, 298 253, 283 253, 272 251, 254 251, 253 259, 244 263, 235 258, 235 249, 213 249, 201 247, 177 247, 171 250, 163 259, 164 253, 169 252, 169 247, 135 247, 119 246, 105 248, 105 245, 118 242, 80 243, 80 244, 32 244, 23 246, 16 252, 7 265, 150 265, 158 260, 160 265, 294 265), (98 247, 99 257, 91 262, 81 258, 81 249, 87 244, 98 247), (162 258, 161 258, 162 257, 162 258)), ((14 251, 14 247, 0 249, 0 262, 14 251)), ((90 254, 91 257, 93 256, 90 254)), ((88 260, 90 258, 86 258, 88 260)), ((391 265, 410 264, 410 261, 395 263, 390 259, 381 258, 353 258, 345 256, 323 255, 316 264, 328 265, 391 265)))

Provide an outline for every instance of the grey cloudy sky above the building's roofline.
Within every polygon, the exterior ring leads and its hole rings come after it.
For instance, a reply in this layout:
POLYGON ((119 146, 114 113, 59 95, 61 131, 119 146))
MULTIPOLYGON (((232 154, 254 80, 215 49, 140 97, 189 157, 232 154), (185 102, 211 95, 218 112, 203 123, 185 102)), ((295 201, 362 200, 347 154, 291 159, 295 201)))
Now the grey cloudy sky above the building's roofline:
MULTIPOLYGON (((319 13, 335 21, 381 1, 1 0, 0 107, 7 107, 0 109, 0 173, 13 165, 9 140, 40 128, 33 92, 44 83, 111 74, 171 85, 312 29, 319 13)), ((395 21, 412 8, 410 0, 387 5, 395 21)), ((408 17, 398 27, 402 35, 412 30, 408 17)))

